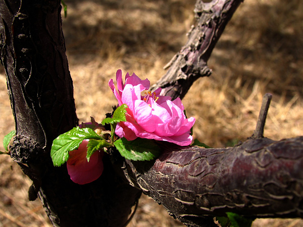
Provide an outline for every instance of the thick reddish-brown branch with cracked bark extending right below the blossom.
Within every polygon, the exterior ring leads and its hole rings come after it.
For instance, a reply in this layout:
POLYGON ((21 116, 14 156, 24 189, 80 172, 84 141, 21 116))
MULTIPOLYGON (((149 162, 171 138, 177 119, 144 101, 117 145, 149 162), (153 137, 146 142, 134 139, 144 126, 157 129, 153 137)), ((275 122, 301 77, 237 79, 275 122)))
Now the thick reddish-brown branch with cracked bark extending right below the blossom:
POLYGON ((233 148, 167 144, 156 160, 125 162, 135 187, 184 223, 204 215, 303 217, 303 137, 248 139, 233 148))

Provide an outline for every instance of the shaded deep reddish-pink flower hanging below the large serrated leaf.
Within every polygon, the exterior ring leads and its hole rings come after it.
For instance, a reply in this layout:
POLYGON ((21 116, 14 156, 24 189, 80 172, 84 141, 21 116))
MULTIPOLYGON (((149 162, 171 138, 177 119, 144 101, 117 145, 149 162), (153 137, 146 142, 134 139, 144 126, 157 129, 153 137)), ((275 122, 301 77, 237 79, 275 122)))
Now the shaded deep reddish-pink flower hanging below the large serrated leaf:
POLYGON ((95 151, 86 159, 87 144, 89 140, 83 140, 79 148, 69 152, 67 171, 71 180, 79 185, 84 185, 97 180, 103 172, 103 151, 95 151), (102 153, 101 153, 102 152, 102 153))

